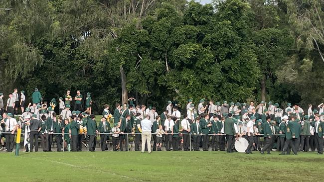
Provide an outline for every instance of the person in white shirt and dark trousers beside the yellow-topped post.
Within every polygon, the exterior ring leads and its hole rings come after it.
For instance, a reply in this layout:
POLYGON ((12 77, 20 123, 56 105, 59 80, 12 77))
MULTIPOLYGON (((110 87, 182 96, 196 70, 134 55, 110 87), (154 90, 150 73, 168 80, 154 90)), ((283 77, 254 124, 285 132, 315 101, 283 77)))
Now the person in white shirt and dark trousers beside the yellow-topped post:
POLYGON ((12 117, 12 113, 7 114, 7 120, 5 121, 5 131, 10 132, 11 134, 5 134, 5 141, 7 146, 7 152, 12 152, 13 149, 13 140, 14 132, 18 127, 18 123, 15 118, 12 117))

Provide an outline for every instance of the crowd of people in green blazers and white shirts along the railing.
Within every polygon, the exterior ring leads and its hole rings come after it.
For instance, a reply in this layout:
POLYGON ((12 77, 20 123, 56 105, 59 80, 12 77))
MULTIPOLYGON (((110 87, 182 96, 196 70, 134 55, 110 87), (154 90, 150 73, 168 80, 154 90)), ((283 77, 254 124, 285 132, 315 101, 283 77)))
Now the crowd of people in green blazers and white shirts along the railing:
POLYGON ((14 89, 8 96, 4 107, 3 93, 0 93, 0 150, 7 152, 12 152, 14 134, 17 128, 21 128, 23 148, 29 152, 38 151, 39 137, 44 152, 52 151, 53 138, 58 152, 62 149, 76 152, 82 148, 95 151, 97 137, 100 137, 101 151, 108 150, 110 141, 112 151, 130 151, 133 148, 131 143, 135 144, 135 151, 140 151, 142 141, 143 153, 151 153, 151 148, 153 151, 200 151, 202 148, 202 151, 232 153, 236 151, 235 141, 245 138, 248 141, 246 154, 252 154, 252 151, 271 154, 273 149, 281 151, 281 155, 291 151, 294 155, 299 151, 323 154, 323 103, 316 109, 309 104, 305 113, 298 104, 291 103, 280 108, 278 103, 271 101, 254 105, 253 101, 249 104, 223 101, 221 104, 213 100, 206 103, 201 99, 195 106, 189 99, 182 113, 176 104, 168 101, 165 110, 158 114, 156 107, 135 105, 135 98, 131 97, 128 103, 116 103, 113 112, 105 104, 98 124, 96 116, 91 113, 91 93, 87 93, 83 102, 82 94, 77 91, 73 111, 70 110, 70 91, 64 98, 59 98, 58 104, 53 98, 49 105, 42 100, 37 89, 28 106, 25 106, 24 91, 19 97, 17 89, 14 89), (82 103, 85 103, 85 109, 82 103), (18 112, 18 105, 22 114, 17 121, 14 114, 18 112), (58 116, 54 112, 57 105, 58 116))

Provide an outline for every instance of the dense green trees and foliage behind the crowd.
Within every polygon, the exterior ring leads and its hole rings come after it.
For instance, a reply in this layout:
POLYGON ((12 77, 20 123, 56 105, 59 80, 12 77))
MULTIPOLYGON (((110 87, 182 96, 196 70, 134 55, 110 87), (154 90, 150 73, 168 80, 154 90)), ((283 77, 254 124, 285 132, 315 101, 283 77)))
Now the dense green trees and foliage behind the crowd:
POLYGON ((306 107, 324 101, 323 5, 1 0, 0 91, 29 97, 37 87, 45 100, 90 91, 94 110, 127 96, 159 111, 188 98, 306 107))

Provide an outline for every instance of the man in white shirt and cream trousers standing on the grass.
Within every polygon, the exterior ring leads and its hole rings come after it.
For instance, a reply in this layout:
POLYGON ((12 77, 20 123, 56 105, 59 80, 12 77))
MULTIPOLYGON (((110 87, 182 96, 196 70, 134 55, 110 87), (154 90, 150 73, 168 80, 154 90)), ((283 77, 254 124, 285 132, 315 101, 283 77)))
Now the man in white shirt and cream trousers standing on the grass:
POLYGON ((147 114, 145 116, 145 119, 141 121, 141 127, 142 127, 142 153, 145 151, 145 144, 148 145, 148 152, 151 154, 151 128, 152 128, 152 122, 149 120, 150 115, 147 114))

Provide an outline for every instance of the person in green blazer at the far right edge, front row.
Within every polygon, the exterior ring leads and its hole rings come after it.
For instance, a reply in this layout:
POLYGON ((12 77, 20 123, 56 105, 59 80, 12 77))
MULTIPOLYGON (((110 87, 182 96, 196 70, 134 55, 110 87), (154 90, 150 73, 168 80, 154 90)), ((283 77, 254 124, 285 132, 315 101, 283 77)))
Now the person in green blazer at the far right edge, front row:
POLYGON ((311 125, 314 127, 315 145, 318 154, 323 154, 324 122, 321 122, 319 114, 315 114, 315 120, 311 122, 311 125))

